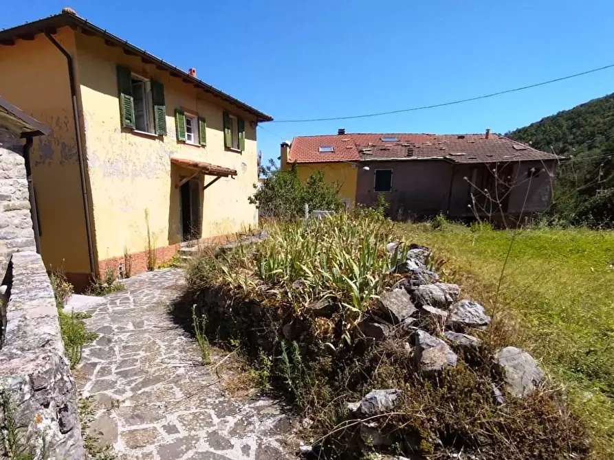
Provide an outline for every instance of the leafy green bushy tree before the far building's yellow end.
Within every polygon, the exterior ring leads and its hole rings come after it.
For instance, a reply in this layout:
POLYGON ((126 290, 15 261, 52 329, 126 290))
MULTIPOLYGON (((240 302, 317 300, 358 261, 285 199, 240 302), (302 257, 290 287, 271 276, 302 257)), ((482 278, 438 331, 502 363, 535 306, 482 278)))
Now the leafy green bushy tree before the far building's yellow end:
POLYGON ((311 173, 305 183, 298 178, 296 168, 281 171, 270 160, 269 165, 261 168, 265 181, 254 185, 256 193, 250 196, 250 203, 255 204, 263 217, 290 220, 303 216, 305 204, 309 209, 339 211, 343 207, 339 199, 337 183, 324 181, 324 172, 311 173))

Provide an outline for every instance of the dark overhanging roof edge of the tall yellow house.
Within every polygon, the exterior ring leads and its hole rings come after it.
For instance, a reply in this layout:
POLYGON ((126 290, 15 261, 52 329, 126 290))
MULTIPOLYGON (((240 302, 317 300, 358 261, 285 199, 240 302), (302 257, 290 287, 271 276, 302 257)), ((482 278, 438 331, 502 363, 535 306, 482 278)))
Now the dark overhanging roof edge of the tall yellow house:
POLYGON ((85 35, 100 36, 105 38, 105 44, 120 47, 120 49, 123 49, 124 53, 129 56, 140 56, 144 63, 155 65, 160 70, 168 70, 171 73, 171 76, 181 78, 184 82, 186 82, 186 84, 193 84, 195 87, 203 89, 206 93, 211 93, 212 95, 215 95, 215 97, 219 97, 219 99, 241 108, 243 111, 254 115, 259 122, 272 121, 272 117, 270 117, 270 115, 258 111, 254 107, 245 104, 245 102, 241 102, 240 100, 223 93, 219 89, 212 87, 210 84, 206 84, 204 81, 191 76, 186 71, 178 69, 174 65, 153 56, 153 54, 148 53, 144 49, 140 49, 139 47, 122 40, 122 38, 107 32, 107 30, 102 30, 97 25, 90 23, 86 19, 83 19, 76 13, 70 11, 69 8, 65 8, 65 10, 63 10, 60 14, 54 14, 52 16, 39 19, 38 21, 17 25, 15 27, 11 27, 10 29, 0 30, 0 45, 10 46, 14 45, 15 41, 17 40, 33 40, 36 34, 49 33, 53 35, 60 27, 67 26, 73 27, 74 29, 79 28, 85 35))

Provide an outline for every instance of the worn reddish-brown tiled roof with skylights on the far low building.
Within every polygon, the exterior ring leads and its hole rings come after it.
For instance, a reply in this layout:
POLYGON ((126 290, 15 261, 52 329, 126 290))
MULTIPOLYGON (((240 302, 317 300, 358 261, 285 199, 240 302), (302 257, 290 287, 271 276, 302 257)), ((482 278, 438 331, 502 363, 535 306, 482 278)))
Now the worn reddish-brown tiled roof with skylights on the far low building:
POLYGON ((452 163, 492 163, 494 161, 556 160, 505 136, 484 134, 435 135, 402 133, 353 133, 295 137, 288 155, 290 163, 325 161, 377 161, 442 159, 452 163), (396 138, 382 141, 382 137, 396 138), (320 146, 333 146, 335 153, 320 153, 320 146))

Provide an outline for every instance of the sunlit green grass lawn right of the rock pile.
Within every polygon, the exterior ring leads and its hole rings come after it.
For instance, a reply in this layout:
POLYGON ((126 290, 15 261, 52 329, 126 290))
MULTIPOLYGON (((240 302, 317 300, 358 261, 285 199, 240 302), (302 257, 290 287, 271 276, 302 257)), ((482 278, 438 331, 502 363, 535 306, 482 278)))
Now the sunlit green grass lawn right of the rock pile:
POLYGON ((494 317, 513 320, 516 327, 507 322, 501 331, 507 341, 569 387, 600 457, 614 458, 614 232, 452 224, 439 230, 408 224, 404 231, 408 242, 435 250, 447 280, 465 295, 494 317))

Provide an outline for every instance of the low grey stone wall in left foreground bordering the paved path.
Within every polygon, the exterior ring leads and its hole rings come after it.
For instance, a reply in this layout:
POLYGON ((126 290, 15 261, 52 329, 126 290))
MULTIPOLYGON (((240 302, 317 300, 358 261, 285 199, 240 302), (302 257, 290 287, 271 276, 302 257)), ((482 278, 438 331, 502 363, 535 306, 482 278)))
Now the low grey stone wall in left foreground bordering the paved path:
POLYGON ((21 427, 21 443, 36 446, 39 452, 46 446, 43 458, 83 459, 76 386, 43 260, 33 251, 14 253, 8 273, 7 327, 0 349, 0 424, 12 415, 21 427))

